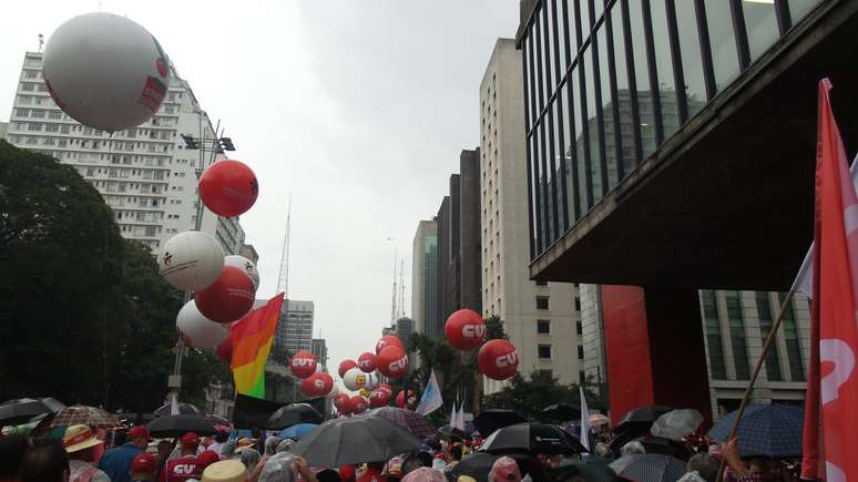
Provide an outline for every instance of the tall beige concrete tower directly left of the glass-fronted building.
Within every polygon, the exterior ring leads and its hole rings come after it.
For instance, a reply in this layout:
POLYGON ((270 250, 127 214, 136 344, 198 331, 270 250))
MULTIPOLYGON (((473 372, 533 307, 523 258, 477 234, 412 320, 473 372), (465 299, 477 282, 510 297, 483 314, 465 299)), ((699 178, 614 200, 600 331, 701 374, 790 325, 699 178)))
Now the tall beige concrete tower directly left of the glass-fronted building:
MULTIPOLYGON (((519 371, 578 382, 576 288, 530 279, 528 172, 521 53, 498 39, 480 84, 482 314, 499 316, 515 345, 519 371)), ((484 378, 487 393, 502 383, 484 378)))

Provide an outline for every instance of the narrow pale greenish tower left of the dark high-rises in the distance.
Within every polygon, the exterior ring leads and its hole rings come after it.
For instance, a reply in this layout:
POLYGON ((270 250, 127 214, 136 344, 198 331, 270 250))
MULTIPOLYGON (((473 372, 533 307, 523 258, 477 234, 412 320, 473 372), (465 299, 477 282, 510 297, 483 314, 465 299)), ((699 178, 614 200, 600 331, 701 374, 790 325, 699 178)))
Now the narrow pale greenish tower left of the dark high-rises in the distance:
POLYGON ((438 223, 421 221, 411 250, 411 317, 418 334, 440 336, 437 299, 438 223))

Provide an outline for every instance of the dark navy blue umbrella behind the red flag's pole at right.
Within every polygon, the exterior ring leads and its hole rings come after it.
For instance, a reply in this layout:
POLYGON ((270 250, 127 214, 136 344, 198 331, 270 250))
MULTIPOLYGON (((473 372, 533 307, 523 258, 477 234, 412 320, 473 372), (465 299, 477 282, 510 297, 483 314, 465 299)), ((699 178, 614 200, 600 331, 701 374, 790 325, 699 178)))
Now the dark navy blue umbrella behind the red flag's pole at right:
MULTIPOLYGON (((718 420, 709 430, 709 437, 726 442, 736 412, 718 420)), ((784 404, 749 404, 745 408, 736 437, 742 457, 769 457, 773 459, 801 454, 801 427, 805 412, 801 407, 784 404)))

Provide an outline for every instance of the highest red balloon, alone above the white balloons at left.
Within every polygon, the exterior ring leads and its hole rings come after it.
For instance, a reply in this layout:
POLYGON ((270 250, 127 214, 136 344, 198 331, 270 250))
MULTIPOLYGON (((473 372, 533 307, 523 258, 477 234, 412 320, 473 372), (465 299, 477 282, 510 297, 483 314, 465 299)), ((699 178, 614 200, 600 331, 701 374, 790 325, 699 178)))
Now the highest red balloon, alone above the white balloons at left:
POLYGON ((259 183, 247 165, 233 160, 217 161, 200 176, 200 198, 212 213, 238 216, 256 202, 259 183))

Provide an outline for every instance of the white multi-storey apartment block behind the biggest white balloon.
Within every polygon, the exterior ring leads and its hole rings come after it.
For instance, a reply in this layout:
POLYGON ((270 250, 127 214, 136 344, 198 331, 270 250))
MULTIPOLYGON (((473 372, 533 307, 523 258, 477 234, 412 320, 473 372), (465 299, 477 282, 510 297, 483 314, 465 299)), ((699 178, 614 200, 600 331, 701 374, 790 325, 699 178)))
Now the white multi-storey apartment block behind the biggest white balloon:
MULTIPOLYGON (((197 173, 208 158, 186 150, 181 134, 212 139, 214 129, 173 65, 159 112, 146 123, 111 136, 62 112, 44 85, 42 54, 25 53, 7 141, 74 166, 113 209, 122 236, 153 252, 196 224, 197 173)), ((221 158, 223 154, 215 156, 221 158)), ((201 229, 215 236, 225 253, 237 254, 245 237, 238 218, 203 213, 201 229)))

